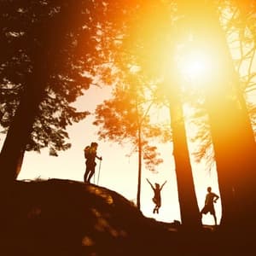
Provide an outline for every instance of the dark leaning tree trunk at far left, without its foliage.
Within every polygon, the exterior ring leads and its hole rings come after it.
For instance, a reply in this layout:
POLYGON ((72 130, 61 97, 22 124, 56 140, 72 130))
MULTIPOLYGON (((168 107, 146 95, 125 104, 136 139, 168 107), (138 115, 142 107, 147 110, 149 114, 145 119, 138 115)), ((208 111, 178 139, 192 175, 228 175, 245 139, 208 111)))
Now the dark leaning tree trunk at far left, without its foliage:
MULTIPOLYGON (((52 21, 38 25, 41 31, 42 42, 37 52, 31 56, 33 62, 32 73, 27 78, 26 88, 20 99, 15 117, 12 120, 0 154, 0 179, 2 185, 12 183, 19 175, 26 143, 31 136, 33 123, 38 115, 39 104, 44 99, 44 90, 47 86, 55 60, 58 58, 62 40, 67 31, 76 27, 79 22, 82 2, 69 3, 61 9, 61 14, 52 21), (41 26, 41 27, 39 27, 41 26)), ((35 44, 33 35, 30 42, 32 49, 35 44)))

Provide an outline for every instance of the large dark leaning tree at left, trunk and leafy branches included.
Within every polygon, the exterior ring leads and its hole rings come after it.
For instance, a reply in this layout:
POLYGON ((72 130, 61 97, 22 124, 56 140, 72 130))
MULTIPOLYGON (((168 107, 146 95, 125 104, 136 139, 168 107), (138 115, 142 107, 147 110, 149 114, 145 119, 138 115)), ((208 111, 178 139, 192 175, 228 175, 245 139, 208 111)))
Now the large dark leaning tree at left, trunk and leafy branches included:
POLYGON ((0 111, 8 129, 0 154, 3 181, 17 177, 26 149, 49 147, 55 155, 70 147, 67 125, 88 114, 70 103, 96 73, 108 84, 111 70, 102 63, 111 61, 108 54, 119 40, 120 22, 109 21, 119 4, 108 9, 107 2, 82 0, 1 3, 0 111))

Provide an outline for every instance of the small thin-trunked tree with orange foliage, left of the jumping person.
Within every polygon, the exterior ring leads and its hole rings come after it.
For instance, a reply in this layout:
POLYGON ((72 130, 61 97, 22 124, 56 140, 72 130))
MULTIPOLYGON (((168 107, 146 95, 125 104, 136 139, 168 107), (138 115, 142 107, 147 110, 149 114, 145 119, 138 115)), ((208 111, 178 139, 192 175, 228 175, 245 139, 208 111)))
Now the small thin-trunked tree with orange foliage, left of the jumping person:
MULTIPOLYGON (((133 75, 135 76, 135 75, 133 75)), ((138 75, 137 75, 138 76, 138 75)), ((150 146, 150 139, 156 137, 170 137, 170 132, 165 131, 160 124, 150 123, 150 108, 154 96, 145 94, 142 81, 119 81, 113 90, 113 97, 103 102, 96 108, 96 120, 94 125, 99 126, 100 138, 112 140, 120 144, 131 143, 132 151, 138 153, 138 183, 137 183, 137 207, 140 209, 142 162, 151 171, 162 160, 158 158, 157 147, 150 146), (125 82, 127 84, 125 84, 125 82)))

